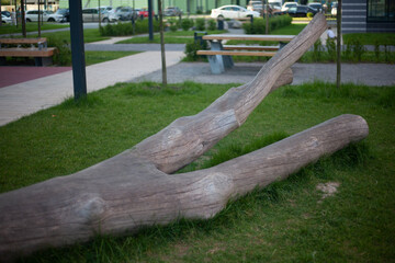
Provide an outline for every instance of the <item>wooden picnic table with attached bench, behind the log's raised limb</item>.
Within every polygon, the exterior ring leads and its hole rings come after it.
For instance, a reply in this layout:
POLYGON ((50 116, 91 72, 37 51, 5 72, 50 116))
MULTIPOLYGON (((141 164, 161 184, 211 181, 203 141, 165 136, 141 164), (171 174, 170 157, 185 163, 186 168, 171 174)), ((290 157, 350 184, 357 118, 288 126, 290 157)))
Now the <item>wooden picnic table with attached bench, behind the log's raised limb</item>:
POLYGON ((294 35, 226 35, 213 34, 204 35, 202 38, 210 41, 210 50, 198 50, 198 55, 208 56, 210 67, 213 73, 222 73, 227 68, 234 66, 232 56, 257 56, 272 57, 287 42, 292 41, 294 35), (223 45, 223 41, 260 41, 279 42, 276 46, 258 45, 223 45))

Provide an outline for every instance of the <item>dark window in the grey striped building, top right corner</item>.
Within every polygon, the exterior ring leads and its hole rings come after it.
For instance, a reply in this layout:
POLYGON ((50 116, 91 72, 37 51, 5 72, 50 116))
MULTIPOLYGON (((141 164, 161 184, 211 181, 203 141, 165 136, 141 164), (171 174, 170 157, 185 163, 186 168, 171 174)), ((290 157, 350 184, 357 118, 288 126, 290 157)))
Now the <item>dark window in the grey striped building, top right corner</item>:
POLYGON ((369 0, 368 21, 370 22, 395 21, 395 1, 369 0))

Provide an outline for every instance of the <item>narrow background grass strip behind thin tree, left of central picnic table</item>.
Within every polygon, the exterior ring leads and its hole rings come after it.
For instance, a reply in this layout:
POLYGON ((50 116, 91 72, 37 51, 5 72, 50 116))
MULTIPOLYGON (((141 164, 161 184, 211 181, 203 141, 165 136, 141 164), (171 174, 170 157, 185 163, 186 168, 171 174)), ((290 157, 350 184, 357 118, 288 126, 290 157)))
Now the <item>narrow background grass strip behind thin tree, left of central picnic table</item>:
MULTIPOLYGON (((207 31, 207 34, 222 34, 226 31, 207 31)), ((178 31, 178 32, 166 32, 165 43, 166 44, 188 44, 193 43, 193 31, 178 31)), ((160 43, 159 34, 154 35, 154 41, 149 41, 148 36, 137 36, 129 39, 117 42, 116 44, 145 44, 145 43, 160 43)))

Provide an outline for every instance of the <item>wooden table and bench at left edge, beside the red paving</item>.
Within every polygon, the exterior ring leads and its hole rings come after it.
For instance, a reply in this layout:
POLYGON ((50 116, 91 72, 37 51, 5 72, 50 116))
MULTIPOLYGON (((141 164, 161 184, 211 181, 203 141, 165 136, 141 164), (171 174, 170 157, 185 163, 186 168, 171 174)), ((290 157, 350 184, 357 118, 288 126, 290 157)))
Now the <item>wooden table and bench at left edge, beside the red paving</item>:
POLYGON ((35 66, 47 66, 56 52, 56 47, 47 47, 45 37, 0 38, 0 65, 5 65, 5 57, 34 57, 35 66))

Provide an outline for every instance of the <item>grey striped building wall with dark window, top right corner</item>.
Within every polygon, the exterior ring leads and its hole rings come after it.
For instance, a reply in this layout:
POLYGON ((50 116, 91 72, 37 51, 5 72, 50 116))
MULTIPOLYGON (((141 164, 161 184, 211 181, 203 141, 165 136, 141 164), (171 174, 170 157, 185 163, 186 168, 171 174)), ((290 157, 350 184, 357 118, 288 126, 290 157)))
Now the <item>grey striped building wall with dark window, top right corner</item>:
POLYGON ((341 32, 394 32, 395 0, 342 0, 341 32))

